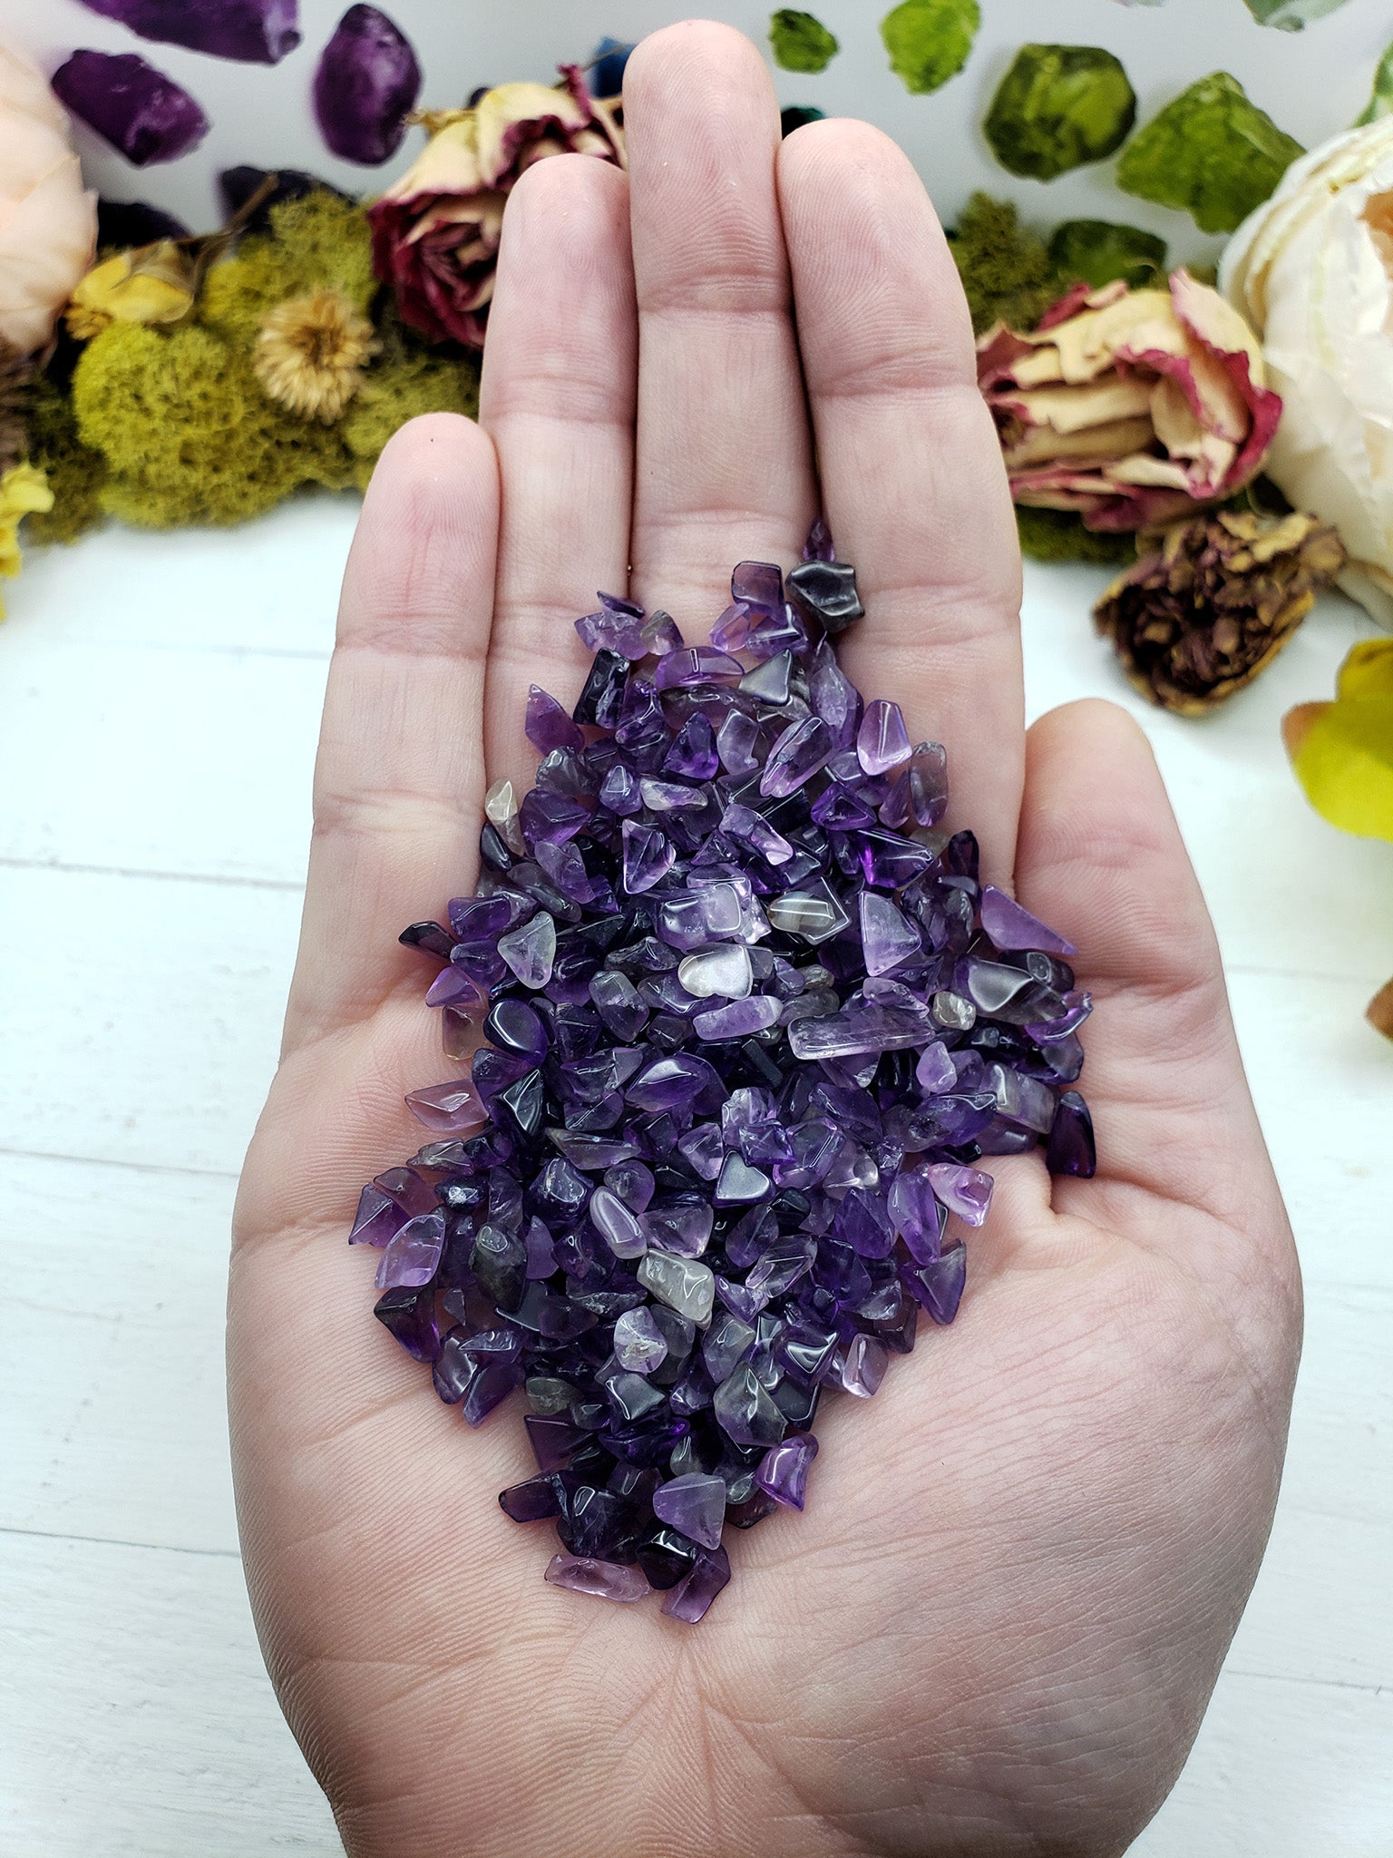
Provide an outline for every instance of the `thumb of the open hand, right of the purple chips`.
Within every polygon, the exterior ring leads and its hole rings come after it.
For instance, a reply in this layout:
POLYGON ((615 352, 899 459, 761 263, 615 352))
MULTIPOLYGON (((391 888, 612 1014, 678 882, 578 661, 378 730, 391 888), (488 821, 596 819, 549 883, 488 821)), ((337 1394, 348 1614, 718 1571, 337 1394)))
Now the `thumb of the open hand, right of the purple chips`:
POLYGON ((1140 1187, 1170 1202, 1157 1230, 1168 1249, 1207 1252, 1207 1215, 1289 1249, 1209 912, 1126 712, 1075 702, 1031 728, 1016 879, 1022 903, 1077 944, 1079 985, 1096 1000, 1079 1087, 1100 1182, 1055 1182, 1055 1206, 1100 1219, 1100 1189, 1140 1187))

